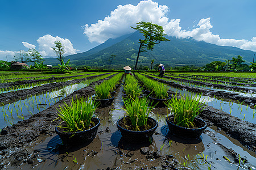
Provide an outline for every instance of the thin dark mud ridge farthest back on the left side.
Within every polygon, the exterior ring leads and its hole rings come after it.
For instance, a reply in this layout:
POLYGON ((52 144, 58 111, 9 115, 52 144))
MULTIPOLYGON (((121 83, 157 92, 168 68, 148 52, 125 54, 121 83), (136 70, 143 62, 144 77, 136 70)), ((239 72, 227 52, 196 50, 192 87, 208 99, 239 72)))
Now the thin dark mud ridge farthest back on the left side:
MULTIPOLYGON (((20 86, 23 84, 32 84, 32 83, 39 83, 39 82, 46 82, 49 80, 60 80, 60 79, 66 79, 66 78, 75 78, 75 77, 79 77, 79 76, 84 76, 84 75, 89 75, 89 74, 83 74, 83 75, 73 75, 73 76, 63 76, 63 77, 54 77, 52 76, 51 78, 48 79, 38 79, 38 80, 18 80, 16 82, 8 82, 8 83, 1 83, 0 84, 0 88, 9 88, 11 86, 20 86)), ((32 77, 31 77, 32 78, 32 77)))

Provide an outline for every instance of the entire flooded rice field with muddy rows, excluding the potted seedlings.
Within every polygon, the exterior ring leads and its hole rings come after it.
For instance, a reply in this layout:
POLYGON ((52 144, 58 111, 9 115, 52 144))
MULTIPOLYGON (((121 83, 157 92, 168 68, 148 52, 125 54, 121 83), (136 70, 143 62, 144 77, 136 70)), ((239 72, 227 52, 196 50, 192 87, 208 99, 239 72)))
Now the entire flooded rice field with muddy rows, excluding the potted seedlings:
POLYGON ((141 94, 146 78, 167 87, 170 97, 201 95, 205 108, 198 117, 207 129, 197 139, 171 134, 170 108, 152 108, 149 116, 158 128, 147 143, 127 143, 117 129, 125 115, 121 74, 0 73, 0 169, 256 168, 255 73, 136 73, 141 94), (112 105, 94 113, 101 121, 96 138, 62 145, 55 133, 57 109, 72 99, 95 97, 95 86, 117 76, 112 105))

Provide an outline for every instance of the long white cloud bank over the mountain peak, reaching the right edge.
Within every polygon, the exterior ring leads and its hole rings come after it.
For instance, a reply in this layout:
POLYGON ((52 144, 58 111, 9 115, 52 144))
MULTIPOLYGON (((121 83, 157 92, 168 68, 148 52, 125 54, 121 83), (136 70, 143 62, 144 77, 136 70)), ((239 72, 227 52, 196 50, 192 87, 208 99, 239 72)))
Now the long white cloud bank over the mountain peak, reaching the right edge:
POLYGON ((161 6, 151 0, 141 1, 137 6, 130 4, 119 5, 104 20, 98 20, 97 23, 90 26, 85 24, 84 34, 90 42, 102 43, 109 38, 116 38, 134 32, 134 29, 130 28, 130 26, 135 26, 136 23, 144 21, 162 25, 168 36, 177 38, 192 37, 197 41, 236 46, 241 49, 256 51, 256 37, 253 37, 250 41, 221 39, 220 35, 214 35, 210 32, 210 29, 213 28, 213 25, 210 24, 210 18, 201 19, 197 25, 192 25, 193 29, 191 31, 187 31, 181 29, 180 19, 168 19, 168 12, 169 8, 166 5, 161 6))

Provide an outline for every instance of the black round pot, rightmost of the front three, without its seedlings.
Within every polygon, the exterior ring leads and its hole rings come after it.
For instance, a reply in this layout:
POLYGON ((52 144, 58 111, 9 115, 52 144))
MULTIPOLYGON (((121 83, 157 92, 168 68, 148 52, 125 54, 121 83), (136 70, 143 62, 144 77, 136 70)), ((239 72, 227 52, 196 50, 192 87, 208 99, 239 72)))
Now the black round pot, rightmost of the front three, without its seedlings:
POLYGON ((203 133, 204 129, 207 128, 207 124, 205 121, 201 120, 200 118, 194 118, 194 123, 196 128, 184 128, 174 124, 174 115, 169 116, 166 118, 166 122, 170 132, 177 137, 185 138, 185 139, 196 139, 199 138, 200 135, 203 133))

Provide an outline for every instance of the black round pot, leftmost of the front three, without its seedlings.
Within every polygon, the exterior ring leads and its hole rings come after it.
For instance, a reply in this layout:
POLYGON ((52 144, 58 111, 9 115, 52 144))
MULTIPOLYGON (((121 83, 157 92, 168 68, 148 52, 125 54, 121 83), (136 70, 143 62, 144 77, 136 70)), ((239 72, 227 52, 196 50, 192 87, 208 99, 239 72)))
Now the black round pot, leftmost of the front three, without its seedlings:
POLYGON ((60 136, 63 145, 77 145, 92 141, 96 137, 98 127, 101 124, 100 119, 98 119, 97 117, 92 117, 92 121, 95 124, 93 128, 84 131, 78 131, 75 133, 63 132, 63 130, 61 130, 59 126, 64 126, 65 122, 61 122, 58 126, 56 126, 55 132, 60 136))

